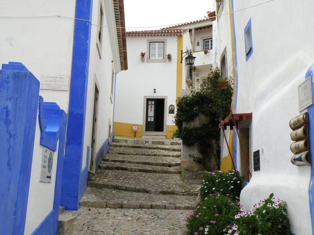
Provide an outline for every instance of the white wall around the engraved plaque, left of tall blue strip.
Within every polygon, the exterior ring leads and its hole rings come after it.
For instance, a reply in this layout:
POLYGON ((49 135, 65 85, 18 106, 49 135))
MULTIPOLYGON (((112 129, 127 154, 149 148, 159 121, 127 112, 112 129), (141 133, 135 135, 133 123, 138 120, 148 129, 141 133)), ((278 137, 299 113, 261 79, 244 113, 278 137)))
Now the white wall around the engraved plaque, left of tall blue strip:
MULTIPOLYGON (((3 0, 0 15, 74 18, 75 0, 3 0)), ((41 75, 71 77, 73 19, 1 18, 0 24, 0 63, 22 62, 39 81, 41 75)), ((57 102, 68 112, 69 91, 40 90, 40 95, 45 102, 57 102)))

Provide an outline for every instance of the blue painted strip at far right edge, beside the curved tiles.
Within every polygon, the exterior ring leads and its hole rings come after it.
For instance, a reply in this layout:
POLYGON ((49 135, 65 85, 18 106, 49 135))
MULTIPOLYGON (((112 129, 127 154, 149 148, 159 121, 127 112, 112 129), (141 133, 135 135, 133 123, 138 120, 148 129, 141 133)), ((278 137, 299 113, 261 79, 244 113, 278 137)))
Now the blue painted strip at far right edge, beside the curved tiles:
MULTIPOLYGON (((305 78, 311 77, 312 94, 314 94, 314 64, 310 66, 307 70, 305 78)), ((311 105, 307 108, 308 118, 309 118, 309 145, 310 145, 310 163, 311 163, 311 177, 309 182, 309 200, 310 200, 310 215, 311 215, 311 225, 312 234, 314 235, 314 138, 312 138, 312 133, 314 133, 314 106, 311 105)))

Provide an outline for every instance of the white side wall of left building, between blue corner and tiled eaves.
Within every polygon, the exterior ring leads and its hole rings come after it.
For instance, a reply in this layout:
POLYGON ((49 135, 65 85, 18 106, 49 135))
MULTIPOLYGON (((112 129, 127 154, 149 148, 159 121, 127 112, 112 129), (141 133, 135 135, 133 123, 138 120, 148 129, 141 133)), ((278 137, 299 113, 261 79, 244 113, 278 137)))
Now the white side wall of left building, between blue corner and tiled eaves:
MULTIPOLYGON (((98 21, 98 11, 99 11, 100 1, 93 1, 93 13, 92 22, 97 23, 98 21)), ((112 3, 111 3, 112 4, 112 3)), ((105 9, 105 4, 103 2, 105 9)), ((112 4, 113 6, 113 4, 112 4)), ((112 8, 113 13, 113 8, 112 8)), ((108 26, 106 11, 104 11, 103 25, 108 26)), ((109 30, 107 27, 102 28, 102 52, 101 58, 98 52, 96 39, 98 38, 97 26, 92 25, 91 38, 90 38, 90 59, 89 59, 89 75, 88 75, 88 90, 87 90, 87 102, 86 102, 86 116, 85 116, 85 134, 84 134, 84 148, 83 148, 83 159, 82 159, 82 170, 86 166, 86 155, 87 146, 91 147, 92 138, 92 127, 93 127, 93 110, 94 110, 94 92, 95 83, 97 80, 97 86, 99 89, 98 97, 98 117, 97 117, 97 129, 95 133, 96 142, 95 149, 96 153, 100 147, 104 144, 105 140, 108 138, 108 123, 109 119, 111 122, 112 131, 112 118, 113 118, 113 97, 110 98, 111 94, 111 75, 112 68, 114 67, 113 50, 111 46, 111 39, 109 35, 109 30)), ((114 68, 113 68, 114 69, 114 68)), ((115 69, 114 69, 115 70, 115 69)), ((119 72, 119 71, 116 71, 119 72)), ((114 91, 113 91, 114 93, 114 91)), ((89 153, 89 156, 91 153, 89 153)), ((90 162, 89 162, 90 164, 90 162)))

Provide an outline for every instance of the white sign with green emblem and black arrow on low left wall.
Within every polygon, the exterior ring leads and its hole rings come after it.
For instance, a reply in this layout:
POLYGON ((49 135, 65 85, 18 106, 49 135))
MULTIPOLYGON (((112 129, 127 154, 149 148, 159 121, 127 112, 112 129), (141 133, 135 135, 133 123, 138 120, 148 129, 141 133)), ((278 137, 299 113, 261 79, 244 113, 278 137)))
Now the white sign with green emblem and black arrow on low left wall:
POLYGON ((51 173, 52 173, 52 163, 53 163, 53 154, 55 152, 43 147, 42 150, 42 159, 41 159, 41 173, 40 173, 40 182, 51 183, 51 173))

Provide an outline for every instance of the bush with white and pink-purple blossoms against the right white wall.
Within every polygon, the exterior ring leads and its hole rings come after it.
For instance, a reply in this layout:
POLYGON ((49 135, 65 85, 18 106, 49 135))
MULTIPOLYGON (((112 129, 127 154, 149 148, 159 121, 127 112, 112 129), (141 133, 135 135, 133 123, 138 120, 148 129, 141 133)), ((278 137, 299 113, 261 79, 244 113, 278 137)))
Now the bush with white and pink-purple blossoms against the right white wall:
POLYGON ((290 222, 287 217, 286 202, 276 199, 273 193, 268 199, 254 204, 250 211, 240 208, 234 226, 225 229, 225 234, 243 235, 290 235, 290 222))

